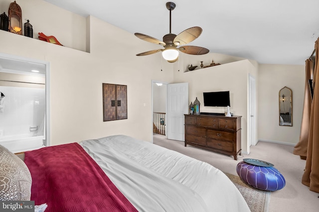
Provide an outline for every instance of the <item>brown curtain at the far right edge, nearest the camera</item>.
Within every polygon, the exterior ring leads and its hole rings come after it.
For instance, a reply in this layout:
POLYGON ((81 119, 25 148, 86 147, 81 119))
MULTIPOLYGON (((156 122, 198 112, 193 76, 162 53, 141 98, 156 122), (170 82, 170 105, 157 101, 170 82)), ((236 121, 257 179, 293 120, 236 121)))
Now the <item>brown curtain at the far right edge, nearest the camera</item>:
POLYGON ((302 177, 302 183, 317 193, 319 193, 319 83, 316 82, 316 79, 319 79, 318 43, 319 39, 315 44, 314 98, 311 106, 306 168, 302 177))

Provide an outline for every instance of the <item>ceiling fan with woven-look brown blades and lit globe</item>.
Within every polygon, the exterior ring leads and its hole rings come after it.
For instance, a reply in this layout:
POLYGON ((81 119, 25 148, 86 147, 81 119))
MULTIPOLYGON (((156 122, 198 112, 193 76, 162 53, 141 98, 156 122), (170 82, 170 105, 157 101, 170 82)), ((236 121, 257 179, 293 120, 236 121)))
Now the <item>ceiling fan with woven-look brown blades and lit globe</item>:
POLYGON ((137 54, 137 56, 150 55, 150 54, 154 54, 161 51, 162 57, 168 62, 173 63, 177 61, 178 59, 178 54, 179 54, 178 51, 181 51, 185 54, 192 54, 192 55, 202 55, 202 54, 207 54, 209 52, 208 49, 203 47, 180 46, 180 45, 185 45, 195 40, 196 38, 198 38, 202 32, 202 28, 200 28, 199 26, 194 26, 182 31, 178 35, 172 34, 171 33, 171 10, 173 10, 175 6, 176 4, 173 2, 166 3, 166 8, 169 10, 169 33, 163 36, 163 41, 160 41, 149 35, 145 35, 142 33, 135 33, 135 36, 137 36, 138 38, 151 43, 160 44, 161 46, 164 47, 164 49, 156 49, 156 50, 143 52, 143 53, 137 54))

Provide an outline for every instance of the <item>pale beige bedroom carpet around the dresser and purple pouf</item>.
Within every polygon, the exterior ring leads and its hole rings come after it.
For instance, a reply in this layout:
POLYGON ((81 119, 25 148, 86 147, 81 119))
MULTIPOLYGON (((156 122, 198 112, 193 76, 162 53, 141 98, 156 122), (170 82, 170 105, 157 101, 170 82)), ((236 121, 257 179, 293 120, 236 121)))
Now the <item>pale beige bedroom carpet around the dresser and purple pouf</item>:
POLYGON ((184 142, 168 140, 163 135, 154 134, 154 144, 180 152, 197 160, 207 162, 224 173, 237 176, 236 165, 244 158, 254 158, 270 162, 275 165, 285 177, 286 186, 270 193, 268 212, 318 212, 318 193, 309 190, 309 187, 301 183, 305 169, 305 160, 293 154, 294 147, 290 145, 262 142, 250 147, 249 155, 238 156, 234 160, 232 156, 219 154, 187 145, 184 142))

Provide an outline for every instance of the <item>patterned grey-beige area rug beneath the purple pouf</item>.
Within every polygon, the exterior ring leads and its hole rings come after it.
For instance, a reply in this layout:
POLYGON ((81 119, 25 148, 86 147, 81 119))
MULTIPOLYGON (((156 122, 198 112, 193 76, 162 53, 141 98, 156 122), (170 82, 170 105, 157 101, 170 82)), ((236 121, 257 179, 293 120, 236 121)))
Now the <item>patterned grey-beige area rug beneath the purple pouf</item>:
MULTIPOLYGON (((225 172, 224 172, 225 173, 225 172)), ((269 191, 262 191, 255 189, 252 186, 244 183, 238 176, 225 173, 225 175, 235 184, 251 212, 268 212, 268 206, 270 201, 269 191)))

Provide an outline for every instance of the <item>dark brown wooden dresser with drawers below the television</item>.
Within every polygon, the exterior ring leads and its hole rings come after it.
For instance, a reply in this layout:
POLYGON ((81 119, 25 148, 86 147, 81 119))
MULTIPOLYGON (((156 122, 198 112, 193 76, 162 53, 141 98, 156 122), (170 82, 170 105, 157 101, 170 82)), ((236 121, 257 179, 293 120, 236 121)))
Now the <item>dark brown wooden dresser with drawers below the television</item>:
POLYGON ((234 156, 241 154, 241 117, 185 114, 185 146, 234 156))

